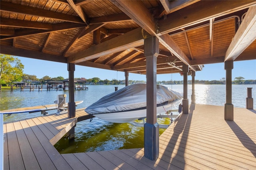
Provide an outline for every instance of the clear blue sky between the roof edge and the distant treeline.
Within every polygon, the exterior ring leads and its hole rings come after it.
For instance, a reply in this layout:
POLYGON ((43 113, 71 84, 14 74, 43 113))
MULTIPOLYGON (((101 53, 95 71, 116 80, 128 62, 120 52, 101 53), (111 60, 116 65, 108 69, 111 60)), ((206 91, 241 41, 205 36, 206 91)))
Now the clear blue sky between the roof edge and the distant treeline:
MULTIPOLYGON (((46 75, 49 77, 62 76, 68 78, 67 64, 58 63, 52 61, 44 61, 39 59, 30 59, 26 57, 17 57, 24 65, 23 72, 28 75, 36 75, 37 78, 42 78, 46 75)), ((232 69, 232 80, 235 77, 244 77, 248 79, 256 79, 256 59, 247 61, 235 61, 234 69, 232 69)), ((85 67, 76 65, 75 78, 85 77, 90 79, 93 77, 99 77, 101 80, 118 79, 124 80, 124 72, 111 71, 105 69, 97 69, 93 67, 85 67)), ((202 71, 196 72, 196 80, 220 80, 222 77, 226 77, 226 71, 224 70, 224 63, 206 64, 202 71)), ((183 77, 178 73, 173 74, 161 74, 157 75, 157 81, 169 81, 169 80, 183 80, 183 77)), ((188 80, 191 76, 188 76, 188 80)), ((146 75, 129 73, 129 80, 144 80, 146 81, 146 75)))

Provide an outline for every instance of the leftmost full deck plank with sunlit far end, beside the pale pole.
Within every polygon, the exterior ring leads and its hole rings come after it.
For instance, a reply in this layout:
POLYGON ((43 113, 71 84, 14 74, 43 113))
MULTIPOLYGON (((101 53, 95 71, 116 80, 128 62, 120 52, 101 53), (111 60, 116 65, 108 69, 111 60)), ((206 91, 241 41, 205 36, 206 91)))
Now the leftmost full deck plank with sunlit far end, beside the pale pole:
POLYGON ((20 146, 18 138, 16 136, 14 123, 10 122, 6 124, 7 140, 8 140, 8 156, 10 169, 25 169, 20 152, 20 146))

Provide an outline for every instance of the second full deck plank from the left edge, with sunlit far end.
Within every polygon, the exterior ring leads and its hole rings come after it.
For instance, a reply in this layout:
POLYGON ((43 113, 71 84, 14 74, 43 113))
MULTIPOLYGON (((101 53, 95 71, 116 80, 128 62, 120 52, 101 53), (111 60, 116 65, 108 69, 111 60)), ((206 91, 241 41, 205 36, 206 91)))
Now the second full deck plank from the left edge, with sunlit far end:
POLYGON ((25 169, 40 169, 34 152, 28 142, 26 134, 20 124, 20 121, 14 123, 14 128, 20 145, 20 152, 24 162, 25 169))

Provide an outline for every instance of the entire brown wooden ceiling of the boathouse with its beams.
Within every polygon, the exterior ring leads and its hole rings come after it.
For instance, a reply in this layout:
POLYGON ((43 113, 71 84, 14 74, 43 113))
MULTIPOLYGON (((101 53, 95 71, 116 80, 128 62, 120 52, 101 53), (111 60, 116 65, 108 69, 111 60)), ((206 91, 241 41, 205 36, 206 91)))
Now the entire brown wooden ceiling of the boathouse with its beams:
POLYGON ((160 42, 158 74, 256 59, 256 1, 0 2, 3 54, 146 74, 149 36, 160 42))

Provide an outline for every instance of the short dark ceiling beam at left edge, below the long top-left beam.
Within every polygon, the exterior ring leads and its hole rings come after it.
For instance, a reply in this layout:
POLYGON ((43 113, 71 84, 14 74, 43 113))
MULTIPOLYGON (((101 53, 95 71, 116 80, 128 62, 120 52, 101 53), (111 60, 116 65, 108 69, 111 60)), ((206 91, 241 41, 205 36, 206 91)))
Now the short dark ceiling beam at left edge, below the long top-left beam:
POLYGON ((17 20, 12 18, 0 18, 0 26, 10 26, 10 27, 21 27, 21 28, 34 28, 42 30, 51 30, 52 24, 34 22, 27 20, 17 20))

